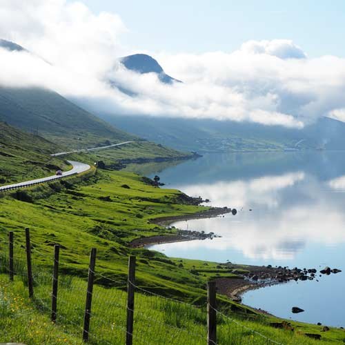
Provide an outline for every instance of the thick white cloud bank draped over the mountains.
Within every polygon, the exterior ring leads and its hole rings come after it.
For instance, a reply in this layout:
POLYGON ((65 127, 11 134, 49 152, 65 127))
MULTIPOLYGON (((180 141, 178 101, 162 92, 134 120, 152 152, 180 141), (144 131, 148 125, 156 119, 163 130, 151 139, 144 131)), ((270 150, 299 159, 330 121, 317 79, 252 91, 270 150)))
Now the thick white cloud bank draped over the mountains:
POLYGON ((128 29, 117 14, 96 15, 77 1, 3 0, 0 19, 0 37, 32 52, 0 48, 0 86, 50 88, 95 112, 302 128, 345 109, 345 59, 310 59, 289 40, 201 55, 147 52, 184 81, 167 85, 118 62, 137 51, 121 43, 128 29))

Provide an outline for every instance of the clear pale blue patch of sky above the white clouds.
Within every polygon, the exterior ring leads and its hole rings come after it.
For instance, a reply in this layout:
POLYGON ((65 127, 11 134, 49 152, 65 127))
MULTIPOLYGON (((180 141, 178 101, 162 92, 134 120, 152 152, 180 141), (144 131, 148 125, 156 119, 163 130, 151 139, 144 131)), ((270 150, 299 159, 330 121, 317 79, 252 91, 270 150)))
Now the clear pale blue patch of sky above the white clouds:
MULTIPOLYGON (((70 0, 72 1, 72 0, 70 0)), ((119 14, 124 43, 138 50, 230 52, 245 41, 290 39, 308 56, 345 57, 345 1, 82 0, 92 12, 119 14)))

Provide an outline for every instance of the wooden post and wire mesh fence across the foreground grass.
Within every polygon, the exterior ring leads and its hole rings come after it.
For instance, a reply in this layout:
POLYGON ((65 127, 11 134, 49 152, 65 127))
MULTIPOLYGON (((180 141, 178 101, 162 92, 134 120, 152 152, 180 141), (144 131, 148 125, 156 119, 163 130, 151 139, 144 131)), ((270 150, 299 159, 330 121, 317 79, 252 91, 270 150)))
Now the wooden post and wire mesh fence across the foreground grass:
POLYGON ((25 246, 20 245, 21 242, 14 242, 14 233, 9 233, 8 252, 0 257, 0 269, 8 273, 10 284, 21 279, 34 305, 83 342, 281 344, 219 310, 215 282, 207 284, 206 304, 186 304, 138 286, 134 256, 129 257, 128 274, 114 279, 97 273, 97 250, 92 248, 86 275, 82 267, 76 268, 61 258, 63 246, 55 244, 50 257, 36 249, 38 244, 32 242, 28 228, 25 239, 25 246), (43 270, 39 262, 45 267, 50 263, 51 271, 43 270))

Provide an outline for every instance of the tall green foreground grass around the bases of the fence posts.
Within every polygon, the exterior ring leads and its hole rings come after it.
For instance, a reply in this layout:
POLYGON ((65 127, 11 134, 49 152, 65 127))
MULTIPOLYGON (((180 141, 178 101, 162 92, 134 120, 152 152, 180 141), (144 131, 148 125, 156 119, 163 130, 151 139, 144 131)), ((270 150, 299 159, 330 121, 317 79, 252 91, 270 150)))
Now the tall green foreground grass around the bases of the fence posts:
MULTIPOLYGON (((63 270, 61 265, 61 270, 63 270)), ((97 269, 96 269, 97 278, 97 269)), ((50 322, 51 274, 34 266, 34 299, 28 299, 24 279, 14 283, 0 275, 0 342, 81 344, 86 281, 60 275, 57 324, 50 322)), ((218 308, 221 311, 221 307, 218 308)), ((191 306, 137 290, 134 344, 206 344, 206 305, 191 306)), ((217 314, 217 344, 319 344, 304 333, 322 334, 322 344, 341 344, 344 331, 321 332, 320 326, 291 322, 294 331, 269 326, 273 319, 244 317, 223 310, 217 314), (258 334, 260 333, 260 335, 258 334)), ((279 320, 277 320, 279 321, 279 320)), ((126 290, 94 286, 90 344, 125 344, 126 290)))

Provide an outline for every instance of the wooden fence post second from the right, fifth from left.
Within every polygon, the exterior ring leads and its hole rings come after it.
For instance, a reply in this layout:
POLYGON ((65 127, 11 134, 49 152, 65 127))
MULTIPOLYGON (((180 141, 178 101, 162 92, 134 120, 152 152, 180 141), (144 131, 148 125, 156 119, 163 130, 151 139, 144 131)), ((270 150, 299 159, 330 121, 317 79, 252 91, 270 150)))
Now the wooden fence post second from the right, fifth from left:
POLYGON ((128 261, 126 345, 132 345, 132 342, 133 342, 134 295, 135 295, 135 256, 130 255, 129 261, 128 261))

